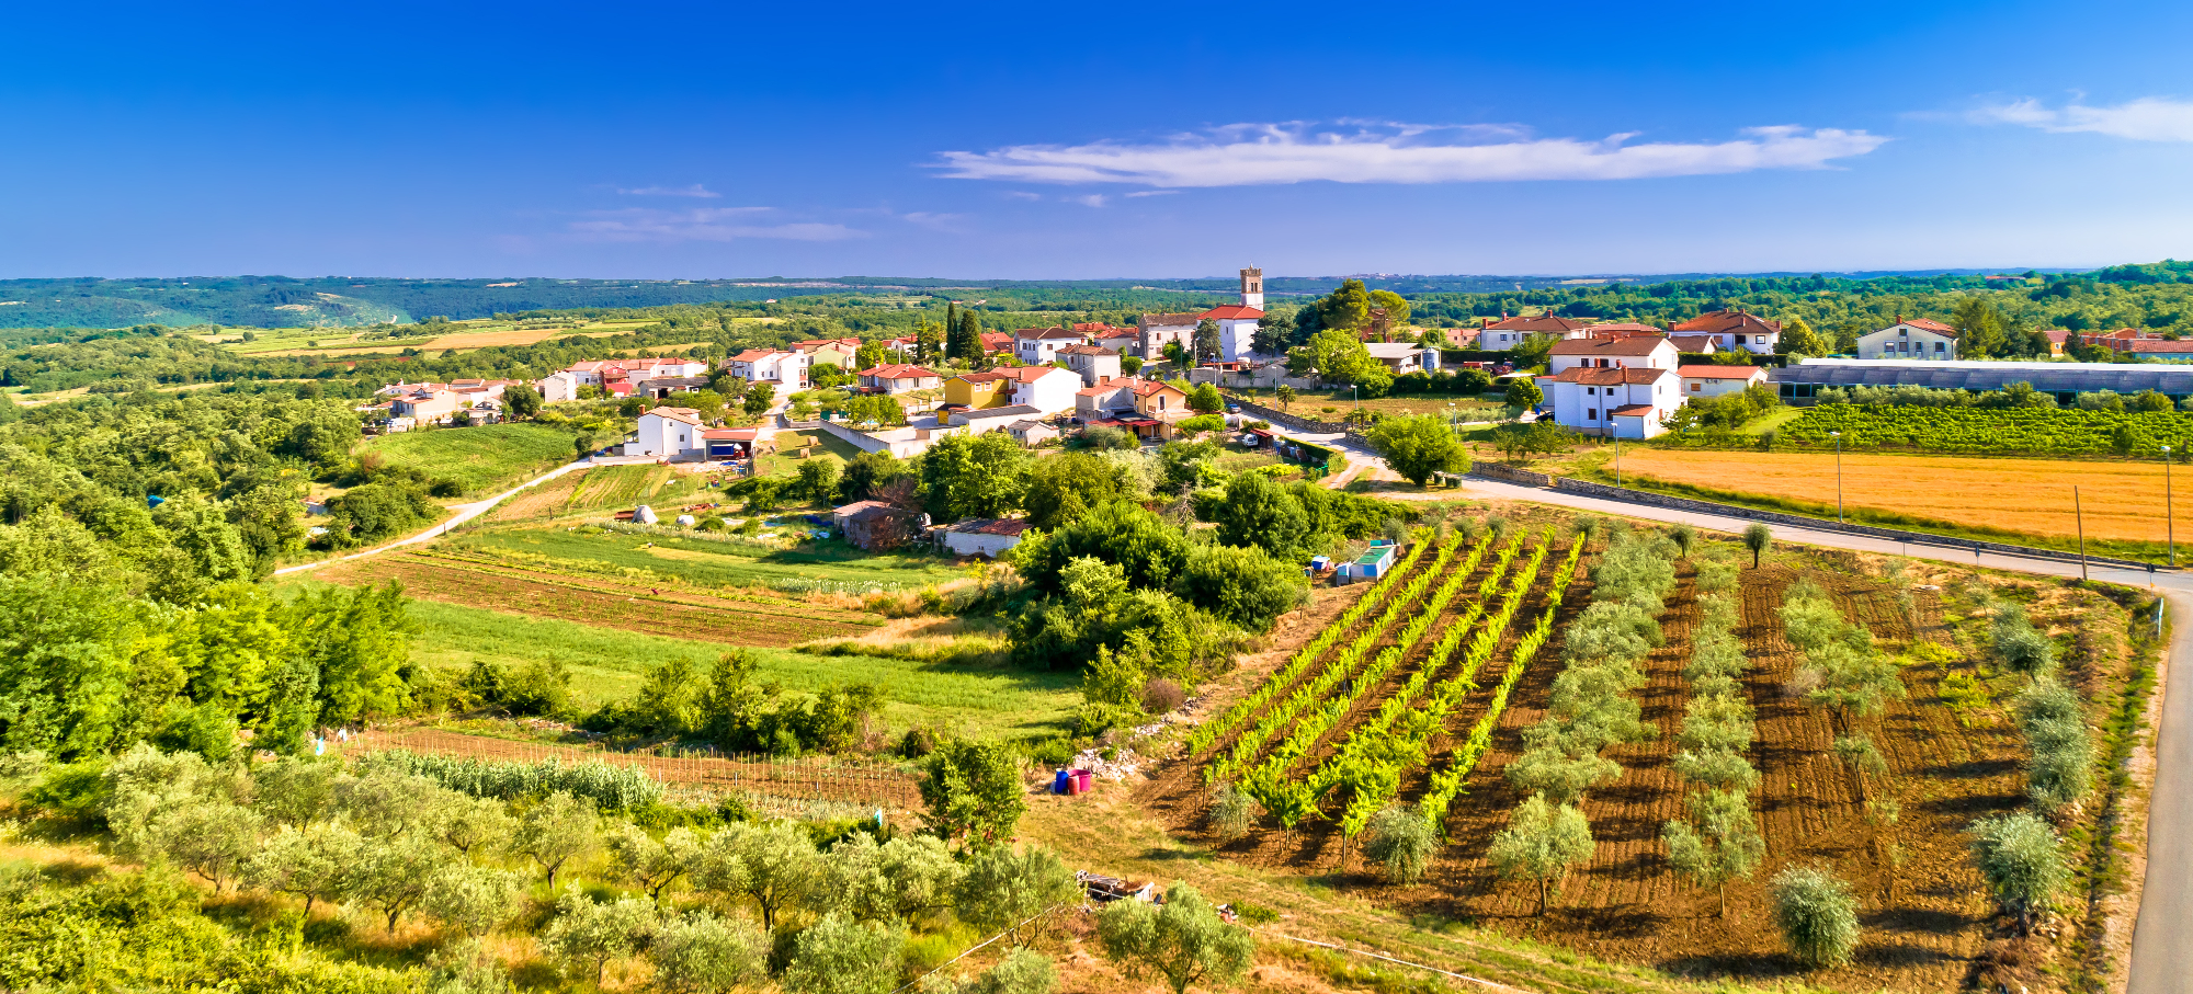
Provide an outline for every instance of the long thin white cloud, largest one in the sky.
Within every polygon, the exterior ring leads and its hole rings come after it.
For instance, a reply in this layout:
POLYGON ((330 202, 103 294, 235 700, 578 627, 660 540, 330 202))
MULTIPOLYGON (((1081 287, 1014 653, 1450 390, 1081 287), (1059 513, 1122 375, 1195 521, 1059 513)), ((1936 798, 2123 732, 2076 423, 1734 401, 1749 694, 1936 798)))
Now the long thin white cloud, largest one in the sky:
POLYGON ((1647 180, 1829 169, 1864 155, 1886 136, 1833 127, 1750 127, 1726 142, 1640 142, 1616 134, 1597 142, 1529 138, 1511 125, 1305 123, 1228 125, 1162 145, 1013 145, 945 151, 934 162, 954 180, 1050 184, 1254 186, 1329 180, 1342 184, 1441 184, 1509 180, 1647 180))

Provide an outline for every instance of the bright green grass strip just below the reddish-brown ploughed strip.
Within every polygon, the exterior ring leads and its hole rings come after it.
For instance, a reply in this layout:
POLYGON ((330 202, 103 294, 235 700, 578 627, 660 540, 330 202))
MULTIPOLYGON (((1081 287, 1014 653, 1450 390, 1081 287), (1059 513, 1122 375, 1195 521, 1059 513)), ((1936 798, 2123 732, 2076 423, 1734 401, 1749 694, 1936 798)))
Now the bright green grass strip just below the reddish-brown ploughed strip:
MULTIPOLYGON (((572 672, 572 696, 583 709, 632 696, 651 666, 689 659, 706 672, 724 650, 708 642, 428 600, 412 602, 410 615, 421 626, 412 637, 414 663, 469 668, 474 661, 500 666, 561 661, 572 672)), ((888 698, 884 723, 893 729, 936 725, 974 736, 1050 736, 1064 729, 1068 714, 1081 703, 1081 681, 1072 672, 954 670, 912 659, 818 657, 781 648, 748 652, 761 663, 763 679, 789 690, 811 692, 831 683, 882 687, 888 698)))

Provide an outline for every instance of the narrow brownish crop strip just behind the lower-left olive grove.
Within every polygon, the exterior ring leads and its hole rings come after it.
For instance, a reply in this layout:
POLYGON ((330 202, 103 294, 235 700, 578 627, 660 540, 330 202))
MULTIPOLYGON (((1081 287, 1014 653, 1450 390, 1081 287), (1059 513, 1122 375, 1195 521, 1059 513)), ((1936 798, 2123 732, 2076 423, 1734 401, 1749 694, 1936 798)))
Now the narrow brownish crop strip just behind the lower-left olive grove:
POLYGON ((838 766, 822 762, 770 762, 721 758, 667 758, 618 753, 553 742, 520 742, 493 736, 467 736, 430 727, 371 729, 353 738, 351 753, 408 749, 412 753, 465 755, 476 760, 564 760, 638 766, 664 784, 704 793, 750 793, 783 801, 875 804, 899 812, 921 808, 921 790, 910 773, 888 766, 838 766))

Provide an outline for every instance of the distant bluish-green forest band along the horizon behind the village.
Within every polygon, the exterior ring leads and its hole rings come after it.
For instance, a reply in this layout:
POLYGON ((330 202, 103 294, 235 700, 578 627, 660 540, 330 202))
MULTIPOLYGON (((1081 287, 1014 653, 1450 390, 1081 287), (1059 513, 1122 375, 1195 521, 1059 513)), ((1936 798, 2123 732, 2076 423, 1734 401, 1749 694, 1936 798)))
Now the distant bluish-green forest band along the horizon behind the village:
MULTIPOLYGON (((2072 274, 2088 282, 2186 282, 2189 263, 2121 265, 2072 274)), ((2066 276, 2066 274, 2055 274, 2066 276)), ((1757 293, 1803 296, 1827 287, 1868 296, 1980 289, 1978 269, 1882 274, 1754 274, 1754 276, 1360 276, 1368 289, 1428 298, 1421 317, 1500 313, 1502 307, 1625 309, 1662 313, 1654 302, 1737 300, 1757 293)), ((1342 276, 1270 276, 1276 300, 1329 293, 1342 276)), ((1182 311, 1232 298, 1235 276, 1193 280, 947 280, 899 276, 838 278, 724 278, 724 280, 395 280, 395 278, 287 278, 211 276, 145 280, 0 280, 0 328, 127 328, 138 324, 294 328, 471 320, 526 311, 632 311, 656 307, 759 304, 805 300, 860 307, 873 298, 923 298, 974 304, 976 311, 1182 311)), ((20 339, 18 339, 20 342, 20 339)))

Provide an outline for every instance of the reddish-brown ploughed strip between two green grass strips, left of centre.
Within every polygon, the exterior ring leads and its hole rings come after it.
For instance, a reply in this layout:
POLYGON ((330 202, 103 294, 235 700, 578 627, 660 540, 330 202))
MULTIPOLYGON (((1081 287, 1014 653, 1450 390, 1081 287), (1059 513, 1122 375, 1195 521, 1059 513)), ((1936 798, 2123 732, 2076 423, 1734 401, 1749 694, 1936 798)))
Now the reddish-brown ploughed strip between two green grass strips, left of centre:
POLYGON ((423 600, 728 646, 794 646, 866 633, 875 624, 871 615, 796 602, 724 600, 684 589, 627 587, 592 576, 443 563, 414 552, 342 563, 320 571, 320 578, 353 585, 401 580, 404 593, 423 600))

